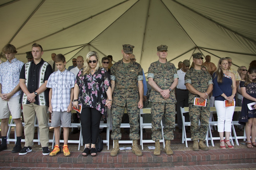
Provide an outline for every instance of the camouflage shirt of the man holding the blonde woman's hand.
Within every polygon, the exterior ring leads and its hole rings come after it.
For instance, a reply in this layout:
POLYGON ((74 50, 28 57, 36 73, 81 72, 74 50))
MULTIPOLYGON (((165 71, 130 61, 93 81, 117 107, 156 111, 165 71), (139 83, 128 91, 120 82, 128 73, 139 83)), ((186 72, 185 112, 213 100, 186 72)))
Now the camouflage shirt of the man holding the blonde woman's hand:
POLYGON ((113 104, 118 106, 138 106, 139 93, 137 81, 143 81, 141 65, 135 61, 129 66, 123 60, 116 62, 111 67, 110 79, 115 81, 113 104))

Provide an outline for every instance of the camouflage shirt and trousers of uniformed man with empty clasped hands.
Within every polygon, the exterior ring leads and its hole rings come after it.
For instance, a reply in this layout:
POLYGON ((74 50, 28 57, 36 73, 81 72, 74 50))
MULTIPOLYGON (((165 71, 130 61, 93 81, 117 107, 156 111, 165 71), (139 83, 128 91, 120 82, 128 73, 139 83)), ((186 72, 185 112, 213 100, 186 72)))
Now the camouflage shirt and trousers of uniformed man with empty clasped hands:
MULTIPOLYGON (((150 64, 148 68, 148 78, 153 78, 154 82, 162 90, 168 89, 175 78, 179 78, 177 69, 173 63, 167 62, 162 68, 162 64, 158 61, 150 64)), ((158 141, 162 139, 161 120, 165 117, 166 128, 164 129, 164 139, 173 140, 173 130, 175 130, 175 94, 174 90, 170 91, 170 97, 164 99, 162 95, 152 88, 149 101, 152 102, 152 140, 158 141)))

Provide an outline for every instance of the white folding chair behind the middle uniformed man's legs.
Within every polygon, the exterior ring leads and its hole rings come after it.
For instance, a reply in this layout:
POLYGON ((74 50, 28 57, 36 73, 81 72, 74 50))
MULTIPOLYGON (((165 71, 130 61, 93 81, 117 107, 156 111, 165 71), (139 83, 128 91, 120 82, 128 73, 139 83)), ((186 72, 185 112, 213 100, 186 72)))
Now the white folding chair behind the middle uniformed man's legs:
MULTIPOLYGON (((154 140, 150 139, 150 140, 144 140, 143 137, 143 133, 142 133, 142 129, 152 129, 152 123, 143 123, 143 117, 142 114, 151 114, 151 108, 144 108, 144 109, 140 109, 140 130, 141 130, 141 148, 143 150, 143 142, 144 143, 155 143, 154 140)), ((165 143, 164 143, 164 126, 161 120, 161 127, 162 127, 162 139, 159 140, 159 142, 163 142, 163 146, 165 148, 165 143)))

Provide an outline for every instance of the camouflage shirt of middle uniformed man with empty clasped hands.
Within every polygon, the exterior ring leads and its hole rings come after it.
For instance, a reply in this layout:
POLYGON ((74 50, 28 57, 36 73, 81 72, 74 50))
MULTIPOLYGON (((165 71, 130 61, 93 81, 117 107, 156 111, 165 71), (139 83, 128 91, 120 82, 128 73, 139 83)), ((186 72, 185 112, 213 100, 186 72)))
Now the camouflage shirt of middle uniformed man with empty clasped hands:
MULTIPOLYGON (((150 64, 148 68, 147 78, 153 78, 154 82, 158 85, 162 90, 168 89, 175 78, 179 78, 177 74, 177 69, 173 63, 167 62, 162 68, 162 64, 158 61, 150 64)), ((168 99, 164 99, 162 95, 152 88, 151 95, 148 101, 151 102, 159 102, 159 103, 175 103, 175 93, 174 90, 170 91, 170 97, 168 99)))

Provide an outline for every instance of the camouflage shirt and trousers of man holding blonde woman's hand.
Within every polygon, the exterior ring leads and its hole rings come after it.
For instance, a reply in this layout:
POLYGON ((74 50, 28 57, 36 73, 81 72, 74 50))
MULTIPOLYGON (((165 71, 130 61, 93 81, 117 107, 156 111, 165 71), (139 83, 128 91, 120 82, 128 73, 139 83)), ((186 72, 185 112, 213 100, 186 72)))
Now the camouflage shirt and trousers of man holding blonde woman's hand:
POLYGON ((127 108, 130 121, 130 139, 140 139, 138 134, 140 109, 138 108, 139 95, 137 81, 143 80, 141 65, 131 60, 126 67, 123 60, 120 60, 111 67, 110 79, 115 81, 112 103, 113 127, 111 139, 119 140, 122 137, 120 125, 125 107, 127 108))

